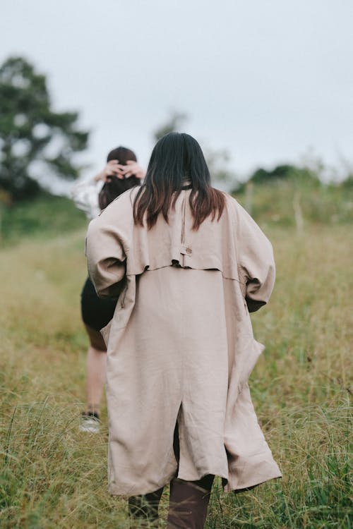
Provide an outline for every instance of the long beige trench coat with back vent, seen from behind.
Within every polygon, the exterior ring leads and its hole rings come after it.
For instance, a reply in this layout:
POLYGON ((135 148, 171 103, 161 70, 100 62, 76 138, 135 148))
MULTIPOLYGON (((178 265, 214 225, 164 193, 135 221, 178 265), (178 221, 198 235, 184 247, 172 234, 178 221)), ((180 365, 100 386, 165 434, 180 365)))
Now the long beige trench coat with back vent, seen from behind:
POLYGON ((249 310, 273 289, 273 250, 229 195, 220 221, 191 229, 189 190, 169 224, 133 223, 136 188, 91 221, 88 272, 102 297, 126 285, 107 343, 109 492, 147 494, 174 475, 237 490, 280 478, 247 380, 263 351, 249 310), (173 450, 179 425, 179 466, 173 450))

